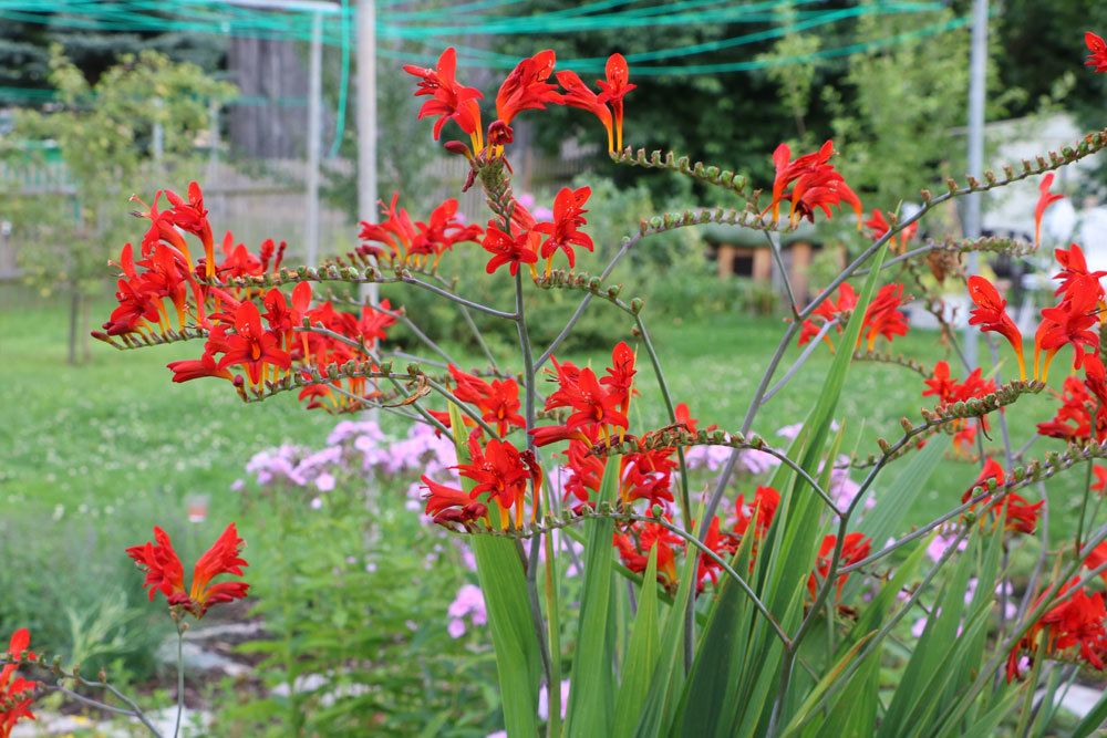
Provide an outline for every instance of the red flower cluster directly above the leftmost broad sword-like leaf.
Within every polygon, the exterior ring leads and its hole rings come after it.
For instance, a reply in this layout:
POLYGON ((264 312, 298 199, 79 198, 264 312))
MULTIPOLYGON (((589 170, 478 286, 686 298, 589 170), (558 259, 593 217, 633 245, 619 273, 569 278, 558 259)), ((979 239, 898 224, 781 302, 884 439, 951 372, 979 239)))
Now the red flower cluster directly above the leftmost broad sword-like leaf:
POLYGON ((514 510, 514 524, 519 528, 528 484, 534 492, 530 510, 534 520, 542 486, 542 470, 534 453, 519 451, 511 443, 498 438, 488 439, 482 447, 479 428, 469 435, 468 449, 469 461, 454 467, 462 477, 474 482, 468 492, 438 484, 425 475, 422 478, 430 491, 426 513, 434 522, 447 527, 453 523, 468 527, 477 520, 487 522, 488 506, 495 500, 500 527, 506 529, 510 524, 509 511, 514 510))

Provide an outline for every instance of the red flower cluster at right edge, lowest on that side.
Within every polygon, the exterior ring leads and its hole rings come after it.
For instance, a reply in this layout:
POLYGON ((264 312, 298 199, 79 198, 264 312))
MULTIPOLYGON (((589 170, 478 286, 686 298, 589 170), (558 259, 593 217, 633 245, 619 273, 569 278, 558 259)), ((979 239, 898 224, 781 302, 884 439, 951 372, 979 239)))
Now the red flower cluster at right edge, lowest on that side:
MULTIPOLYGON (((1103 592, 1088 595, 1084 588, 1077 588, 1078 578, 1066 582, 1056 594, 1056 599, 1066 597, 1064 602, 1047 611, 1031 626, 1031 630, 1018 640, 1007 656, 1007 682, 1022 676, 1021 657, 1025 654, 1031 661, 1037 653, 1038 640, 1045 641, 1041 646, 1043 653, 1059 656, 1063 652, 1079 647, 1079 657, 1089 666, 1104 668, 1104 655, 1107 653, 1107 609, 1104 607, 1103 592)), ((1039 597, 1034 606, 1042 604, 1039 597)))

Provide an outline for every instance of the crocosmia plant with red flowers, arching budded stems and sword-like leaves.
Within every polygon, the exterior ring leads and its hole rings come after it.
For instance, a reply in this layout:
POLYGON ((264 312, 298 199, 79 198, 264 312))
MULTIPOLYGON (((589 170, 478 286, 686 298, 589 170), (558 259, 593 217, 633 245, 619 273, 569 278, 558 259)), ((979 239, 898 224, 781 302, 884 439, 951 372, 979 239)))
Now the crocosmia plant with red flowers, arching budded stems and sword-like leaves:
MULTIPOLYGON (((1094 33, 1085 42, 1092 72, 1107 72, 1107 44, 1094 33)), ((138 202, 148 229, 115 259, 118 306, 94 336, 120 350, 193 341, 203 349, 169 364, 173 382, 224 381, 246 403, 296 393, 308 409, 396 416, 445 444, 452 462, 424 468, 422 505, 428 524, 451 531, 475 559, 509 736, 1095 732, 1107 698, 1066 724, 1057 697, 1107 658, 1099 514, 1107 467, 1097 464, 1107 458, 1107 272, 1090 271, 1078 245, 1056 251, 1055 300, 1041 310, 1028 353, 1000 289, 968 273, 964 256, 1028 254, 1039 245, 922 239, 917 226, 943 204, 1024 179, 1041 186, 1041 222, 1057 197, 1053 173, 1107 148, 1107 129, 924 189, 918 211, 900 216, 894 204, 891 211, 862 206, 865 193, 835 167, 831 142, 795 157, 782 144, 772 153, 772 183, 624 146, 624 101, 635 86, 625 60, 612 55, 596 87, 555 71, 555 62, 549 50, 520 61, 499 86, 487 127, 484 95, 457 80, 453 49, 433 69, 404 67, 426 98, 420 117, 434 118, 435 141, 466 135, 443 148, 468 160, 465 187, 484 191, 487 224, 464 222, 453 199, 412 217, 396 194, 380 219, 362 224, 355 251, 288 267, 283 243, 252 252, 228 233, 217 245, 196 183, 185 197, 163 190, 138 202), (594 115, 614 165, 689 177, 734 206, 660 214, 633 226, 598 273, 578 269, 594 248, 590 188, 561 189, 549 218, 538 219, 511 187, 511 124, 551 105, 594 115), (744 417, 702 427, 694 406, 726 388, 691 402, 672 396, 649 305, 613 281, 620 263, 651 237, 703 224, 761 231, 783 262, 780 233, 831 217, 855 218, 867 245, 806 305, 785 285, 790 316, 744 417), (464 280, 451 277, 455 251, 482 248, 480 278, 504 294, 496 304, 465 297, 464 280), (973 303, 969 323, 993 352, 1006 351, 996 334, 1010 343, 1010 358, 987 375, 963 364, 943 302, 962 283, 973 303), (455 365, 420 315, 374 299, 381 284, 455 308, 487 364, 455 365), (579 305, 551 342, 535 345, 527 304, 550 291, 579 294, 579 305), (922 365, 888 350, 910 330, 902 309, 912 300, 938 320, 950 361, 922 365), (586 311, 606 311, 628 328, 606 366, 558 357, 586 311), (475 314, 513 326, 514 361, 497 360, 475 314), (426 355, 390 347, 397 324, 426 355), (784 366, 796 344, 803 351, 784 366), (816 352, 834 356, 817 377, 818 402, 787 444, 774 444, 768 430, 778 418, 763 410, 816 352), (901 368, 930 406, 887 429, 891 439, 871 453, 847 453, 836 422, 847 375, 872 362, 901 368), (1051 370, 1055 384, 1067 372, 1055 416, 1036 428, 1008 427, 1005 408, 1054 392, 1051 370), (635 423, 646 383, 655 383, 668 416, 661 427, 635 423), (717 476, 695 488, 690 468, 706 449, 722 450, 711 456, 717 476), (743 479, 757 484, 738 491, 751 455, 762 465, 743 479), (910 502, 948 461, 977 465, 976 482, 942 490, 944 514, 909 520, 910 502), (1083 478, 1079 518, 1070 536, 1049 540, 1045 486, 1066 471, 1083 478), (1025 551, 1034 554, 1016 555, 1025 551), (918 619, 910 631, 909 616, 918 619)), ((359 514, 356 505, 346 509, 359 514)), ((242 545, 228 524, 187 581, 162 529, 126 554, 184 633, 209 609, 247 596, 242 545)), ((0 736, 30 718, 49 690, 159 735, 107 675, 37 654, 25 630, 0 663, 0 736)), ((183 701, 178 726, 182 710, 183 701)), ((373 718, 364 720, 370 732, 373 718)))

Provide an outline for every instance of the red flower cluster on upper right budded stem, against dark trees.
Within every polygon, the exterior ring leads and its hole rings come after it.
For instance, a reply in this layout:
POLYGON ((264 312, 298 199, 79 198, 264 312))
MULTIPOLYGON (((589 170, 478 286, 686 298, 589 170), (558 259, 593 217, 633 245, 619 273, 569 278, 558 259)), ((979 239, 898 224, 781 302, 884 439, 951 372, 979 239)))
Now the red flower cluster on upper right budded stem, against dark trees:
MULTIPOLYGON (((842 202, 852 207, 860 218, 863 212, 861 200, 830 164, 834 153, 834 142, 828 141, 818 152, 805 154, 793 162, 788 145, 777 146, 773 153, 773 164, 776 166, 773 201, 762 215, 772 211, 773 222, 777 222, 780 219, 780 204, 787 200, 790 204, 788 220, 793 228, 803 218, 814 222, 817 209, 821 209, 829 218, 830 208, 839 207, 842 202)), ((860 226, 860 220, 858 225, 860 226)))

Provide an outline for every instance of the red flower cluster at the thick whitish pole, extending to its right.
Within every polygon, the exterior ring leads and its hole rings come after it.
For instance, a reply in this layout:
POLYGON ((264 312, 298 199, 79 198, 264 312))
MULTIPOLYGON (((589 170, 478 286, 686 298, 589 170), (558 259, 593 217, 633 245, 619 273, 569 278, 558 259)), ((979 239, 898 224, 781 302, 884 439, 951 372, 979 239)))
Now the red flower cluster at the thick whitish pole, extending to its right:
POLYGON ((412 224, 407 210, 399 207, 400 193, 393 193, 391 202, 381 201, 379 224, 361 221, 360 238, 366 241, 359 249, 361 256, 387 259, 393 264, 436 269, 442 254, 457 243, 478 243, 483 231, 480 226, 466 226, 457 215, 457 200, 449 198, 431 211, 427 222, 412 224), (387 248, 371 246, 380 243, 387 248))

